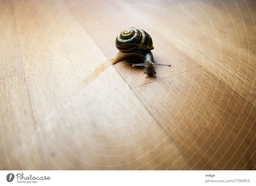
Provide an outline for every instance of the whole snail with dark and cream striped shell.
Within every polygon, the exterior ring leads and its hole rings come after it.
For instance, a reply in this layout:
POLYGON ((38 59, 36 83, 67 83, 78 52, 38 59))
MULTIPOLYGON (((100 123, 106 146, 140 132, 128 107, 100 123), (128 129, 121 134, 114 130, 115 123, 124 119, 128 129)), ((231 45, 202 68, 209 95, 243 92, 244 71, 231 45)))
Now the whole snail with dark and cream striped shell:
POLYGON ((145 66, 144 74, 152 74, 154 66, 170 66, 154 62, 151 50, 154 49, 152 38, 142 29, 128 28, 121 32, 116 37, 116 48, 119 52, 113 58, 112 64, 123 60, 124 58, 132 55, 140 55, 143 57, 143 63, 132 64, 132 66, 145 66))

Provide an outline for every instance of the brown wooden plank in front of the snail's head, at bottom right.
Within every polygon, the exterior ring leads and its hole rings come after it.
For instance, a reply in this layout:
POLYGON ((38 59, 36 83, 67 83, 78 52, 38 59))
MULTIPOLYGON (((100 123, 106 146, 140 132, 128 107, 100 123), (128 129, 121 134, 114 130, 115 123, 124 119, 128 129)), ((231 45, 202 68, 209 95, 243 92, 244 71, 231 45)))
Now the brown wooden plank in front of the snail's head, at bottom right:
POLYGON ((255 169, 255 107, 202 67, 133 90, 188 162, 204 170, 255 169))

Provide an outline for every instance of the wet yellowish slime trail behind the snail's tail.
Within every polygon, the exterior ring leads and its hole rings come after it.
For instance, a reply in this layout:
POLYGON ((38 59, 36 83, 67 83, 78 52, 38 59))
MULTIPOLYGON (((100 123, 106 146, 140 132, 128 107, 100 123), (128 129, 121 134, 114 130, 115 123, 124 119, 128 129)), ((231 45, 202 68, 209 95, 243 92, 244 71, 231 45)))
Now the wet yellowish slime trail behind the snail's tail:
POLYGON ((112 65, 112 59, 109 61, 103 62, 100 64, 100 66, 97 66, 95 70, 92 72, 92 74, 88 75, 84 80, 81 81, 79 88, 80 90, 87 87, 92 81, 96 80, 96 78, 104 72, 109 66, 112 65))

